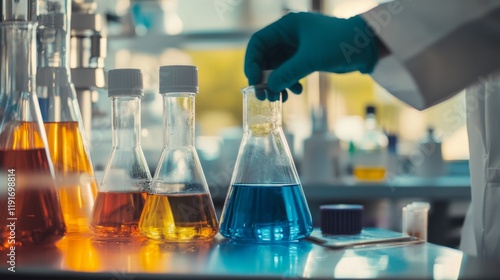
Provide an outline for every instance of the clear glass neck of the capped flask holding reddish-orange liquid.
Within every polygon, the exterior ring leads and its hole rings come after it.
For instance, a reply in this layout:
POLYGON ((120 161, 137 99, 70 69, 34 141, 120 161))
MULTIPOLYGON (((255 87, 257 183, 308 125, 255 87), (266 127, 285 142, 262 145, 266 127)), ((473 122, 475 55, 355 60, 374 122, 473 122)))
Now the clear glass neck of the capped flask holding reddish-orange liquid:
POLYGON ((113 148, 141 145, 141 99, 137 96, 113 97, 113 148))

